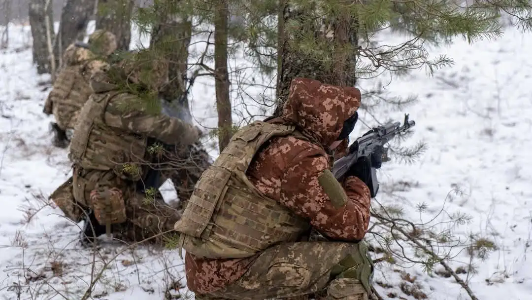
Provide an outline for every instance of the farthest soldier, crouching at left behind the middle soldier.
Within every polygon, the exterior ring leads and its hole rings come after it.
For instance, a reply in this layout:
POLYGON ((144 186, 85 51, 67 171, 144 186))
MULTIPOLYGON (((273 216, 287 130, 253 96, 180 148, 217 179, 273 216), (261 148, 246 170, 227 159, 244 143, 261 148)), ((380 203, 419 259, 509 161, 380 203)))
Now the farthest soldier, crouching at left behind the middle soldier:
POLYGON ((53 113, 56 123, 53 144, 66 148, 66 130, 74 129, 81 107, 87 102, 92 90, 89 78, 94 60, 105 58, 117 49, 116 37, 107 31, 96 30, 89 36, 88 48, 79 43, 69 45, 63 54, 63 67, 58 72, 52 91, 44 104, 44 113, 53 113), (93 50, 93 51, 91 51, 93 50))

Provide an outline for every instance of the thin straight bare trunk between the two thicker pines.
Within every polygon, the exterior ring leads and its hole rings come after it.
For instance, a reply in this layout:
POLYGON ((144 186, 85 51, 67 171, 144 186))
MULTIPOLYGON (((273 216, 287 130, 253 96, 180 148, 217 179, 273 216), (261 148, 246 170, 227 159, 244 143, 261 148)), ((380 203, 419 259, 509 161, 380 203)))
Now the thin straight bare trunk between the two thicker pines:
POLYGON ((227 70, 227 0, 214 5, 214 79, 216 108, 218 110, 218 148, 220 152, 232 136, 231 100, 229 98, 229 72, 227 70))

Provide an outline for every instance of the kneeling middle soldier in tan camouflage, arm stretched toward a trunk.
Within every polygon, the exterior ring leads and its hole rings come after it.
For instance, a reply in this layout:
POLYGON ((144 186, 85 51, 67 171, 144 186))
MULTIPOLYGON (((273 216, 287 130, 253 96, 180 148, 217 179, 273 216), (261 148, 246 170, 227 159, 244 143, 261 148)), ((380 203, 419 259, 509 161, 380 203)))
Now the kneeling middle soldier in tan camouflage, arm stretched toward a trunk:
POLYGON ((152 115, 139 105, 142 100, 134 91, 156 95, 168 78, 168 62, 142 61, 146 53, 131 54, 113 66, 102 64, 90 78, 94 93, 80 111, 70 144, 73 175, 51 196, 72 221, 79 222, 90 209, 95 226, 128 242, 161 241, 160 233, 171 231, 180 218, 161 198, 139 191, 151 155, 148 139, 189 145, 201 134, 197 127, 152 115))

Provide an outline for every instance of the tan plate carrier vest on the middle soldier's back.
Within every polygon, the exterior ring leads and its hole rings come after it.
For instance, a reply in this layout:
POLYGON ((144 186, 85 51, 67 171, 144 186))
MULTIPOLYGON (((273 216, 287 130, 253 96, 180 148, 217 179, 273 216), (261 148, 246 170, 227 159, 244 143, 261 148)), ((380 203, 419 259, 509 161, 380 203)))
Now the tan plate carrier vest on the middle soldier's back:
POLYGON ((123 179, 137 181, 141 174, 124 173, 123 164, 136 164, 144 160, 147 139, 105 124, 107 104, 117 95, 120 96, 117 92, 90 96, 74 128, 69 159, 83 169, 112 169, 123 179))

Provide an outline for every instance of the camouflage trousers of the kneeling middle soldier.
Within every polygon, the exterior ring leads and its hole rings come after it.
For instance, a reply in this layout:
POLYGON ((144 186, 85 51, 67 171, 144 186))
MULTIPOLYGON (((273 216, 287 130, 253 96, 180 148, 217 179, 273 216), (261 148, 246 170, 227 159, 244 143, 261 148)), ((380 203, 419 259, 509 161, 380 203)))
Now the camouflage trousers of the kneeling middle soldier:
POLYGON ((103 207, 109 203, 98 203, 99 198, 94 197, 95 191, 100 194, 108 191, 114 194, 118 192, 121 196, 122 204, 113 204, 112 207, 116 211, 111 212, 114 215, 123 213, 123 217, 117 217, 115 220, 124 220, 124 222, 112 222, 111 229, 115 238, 127 242, 138 242, 148 238, 150 242, 161 242, 174 234, 162 233, 173 231, 174 223, 181 217, 180 212, 168 206, 160 197, 146 197, 137 191, 135 182, 120 179, 113 171, 86 171, 74 168, 73 194, 76 201, 95 210, 98 222, 105 225, 106 220, 98 218, 96 210, 99 206, 103 207))

